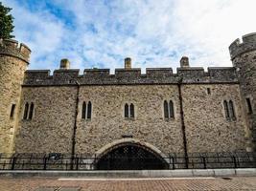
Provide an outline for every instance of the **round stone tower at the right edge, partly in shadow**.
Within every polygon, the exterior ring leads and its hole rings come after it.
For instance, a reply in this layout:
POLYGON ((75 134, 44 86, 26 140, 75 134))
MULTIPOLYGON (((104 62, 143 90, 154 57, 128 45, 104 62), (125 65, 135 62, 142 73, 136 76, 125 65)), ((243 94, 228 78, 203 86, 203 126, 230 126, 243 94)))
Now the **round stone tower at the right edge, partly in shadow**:
POLYGON ((247 124, 249 129, 248 141, 251 150, 256 150, 256 32, 243 36, 243 42, 236 39, 230 46, 229 52, 233 66, 237 69, 241 92, 244 101, 247 124))

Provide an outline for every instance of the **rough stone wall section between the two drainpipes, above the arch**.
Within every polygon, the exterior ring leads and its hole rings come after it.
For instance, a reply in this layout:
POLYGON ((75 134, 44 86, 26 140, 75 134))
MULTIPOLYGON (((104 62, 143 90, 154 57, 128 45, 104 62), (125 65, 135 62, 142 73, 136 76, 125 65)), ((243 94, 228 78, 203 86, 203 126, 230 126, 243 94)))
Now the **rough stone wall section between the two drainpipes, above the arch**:
POLYGON ((92 119, 81 119, 79 114, 77 153, 93 155, 123 135, 148 142, 164 153, 183 152, 177 86, 89 86, 81 87, 80 95, 81 103, 92 102, 92 119), (165 99, 174 101, 175 119, 164 119, 165 99), (124 117, 126 103, 134 104, 134 119, 124 117))

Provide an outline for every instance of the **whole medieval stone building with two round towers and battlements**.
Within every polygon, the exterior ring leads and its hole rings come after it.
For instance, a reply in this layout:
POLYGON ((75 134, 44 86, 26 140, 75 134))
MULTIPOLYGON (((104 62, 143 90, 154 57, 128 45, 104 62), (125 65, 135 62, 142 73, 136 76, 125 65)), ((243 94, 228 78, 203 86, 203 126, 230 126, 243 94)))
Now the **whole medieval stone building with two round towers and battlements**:
POLYGON ((126 145, 168 153, 252 151, 256 33, 234 41, 233 67, 26 70, 30 49, 0 43, 0 153, 104 156, 126 145))

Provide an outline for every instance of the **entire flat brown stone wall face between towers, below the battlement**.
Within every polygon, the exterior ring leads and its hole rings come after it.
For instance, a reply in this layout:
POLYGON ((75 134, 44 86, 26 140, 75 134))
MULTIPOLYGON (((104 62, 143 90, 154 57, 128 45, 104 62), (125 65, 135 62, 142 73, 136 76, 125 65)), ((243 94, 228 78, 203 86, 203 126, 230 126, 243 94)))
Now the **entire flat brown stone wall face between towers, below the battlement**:
MULTIPOLYGON (((245 149, 245 122, 238 84, 182 85, 188 152, 245 149), (207 88, 211 95, 207 95, 207 88), (230 98, 237 120, 225 119, 222 100, 230 98)), ((170 85, 81 86, 76 153, 93 156, 106 144, 132 136, 163 153, 183 153, 178 87, 170 85), (172 99, 175 118, 166 120, 164 100, 172 99), (92 118, 81 119, 82 101, 92 102, 92 118), (124 117, 125 103, 135 106, 135 118, 124 117)), ((16 152, 71 153, 76 86, 24 87, 22 107, 35 103, 35 117, 19 122, 16 152)))

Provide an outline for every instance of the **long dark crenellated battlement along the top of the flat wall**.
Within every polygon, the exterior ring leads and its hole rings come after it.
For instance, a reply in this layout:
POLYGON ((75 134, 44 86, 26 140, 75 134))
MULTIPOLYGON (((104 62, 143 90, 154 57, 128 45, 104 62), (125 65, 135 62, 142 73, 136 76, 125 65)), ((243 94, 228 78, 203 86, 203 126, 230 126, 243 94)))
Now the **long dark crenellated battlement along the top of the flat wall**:
POLYGON ((233 67, 203 68, 189 67, 178 68, 173 73, 172 68, 150 68, 146 74, 141 74, 141 69, 116 69, 115 74, 110 74, 109 69, 85 69, 83 74, 79 70, 56 70, 53 75, 50 71, 28 70, 25 73, 23 85, 51 86, 72 85, 78 81, 81 85, 124 85, 124 84, 176 84, 182 78, 183 83, 237 83, 236 70, 233 67))

